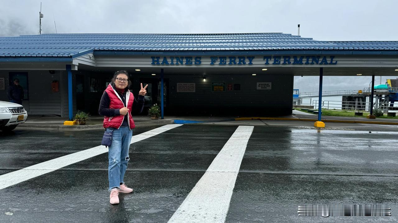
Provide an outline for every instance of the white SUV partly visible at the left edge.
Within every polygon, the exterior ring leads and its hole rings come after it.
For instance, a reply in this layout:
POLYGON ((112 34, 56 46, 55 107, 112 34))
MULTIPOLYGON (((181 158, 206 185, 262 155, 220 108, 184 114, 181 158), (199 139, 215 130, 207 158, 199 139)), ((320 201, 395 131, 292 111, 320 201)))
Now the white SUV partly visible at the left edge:
POLYGON ((12 131, 26 118, 27 112, 20 104, 0 101, 0 130, 12 131))

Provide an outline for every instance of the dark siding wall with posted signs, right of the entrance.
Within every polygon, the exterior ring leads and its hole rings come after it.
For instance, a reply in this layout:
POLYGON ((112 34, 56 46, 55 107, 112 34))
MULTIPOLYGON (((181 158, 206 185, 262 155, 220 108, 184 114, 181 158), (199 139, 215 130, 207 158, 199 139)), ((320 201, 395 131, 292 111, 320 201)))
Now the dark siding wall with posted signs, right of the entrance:
POLYGON ((267 115, 291 114, 293 75, 165 75, 170 80, 170 109, 182 114, 267 115), (212 92, 212 82, 240 84, 240 90, 212 92), (271 90, 257 90, 258 82, 271 82, 271 90), (177 83, 195 83, 196 92, 177 92, 177 83), (171 88, 174 86, 174 90, 171 88))

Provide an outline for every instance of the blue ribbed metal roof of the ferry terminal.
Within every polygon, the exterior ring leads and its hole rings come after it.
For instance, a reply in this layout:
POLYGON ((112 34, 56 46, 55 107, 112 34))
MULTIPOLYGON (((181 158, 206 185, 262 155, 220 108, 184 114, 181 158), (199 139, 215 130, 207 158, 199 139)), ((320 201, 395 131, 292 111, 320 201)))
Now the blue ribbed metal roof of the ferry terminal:
MULTIPOLYGON (((93 50, 398 50, 398 41, 318 41, 285 33, 43 34, 0 37, 0 57, 76 57, 93 50)), ((94 51, 95 53, 95 51, 94 51)))

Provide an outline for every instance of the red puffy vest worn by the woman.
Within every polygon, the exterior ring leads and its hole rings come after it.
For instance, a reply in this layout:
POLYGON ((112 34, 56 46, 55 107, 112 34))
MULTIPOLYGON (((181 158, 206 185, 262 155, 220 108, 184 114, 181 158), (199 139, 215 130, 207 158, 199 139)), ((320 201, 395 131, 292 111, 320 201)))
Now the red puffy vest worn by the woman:
MULTIPOLYGON (((113 89, 111 84, 108 85, 105 91, 107 92, 109 99, 111 100, 111 102, 109 103, 109 108, 121 109, 124 107, 122 99, 120 98, 119 94, 117 94, 116 90, 113 89)), ((134 129, 135 124, 133 116, 131 116, 131 109, 133 108, 134 95, 133 93, 130 92, 130 90, 127 90, 126 92, 126 101, 127 101, 127 108, 129 109, 129 112, 127 112, 129 114, 129 120, 127 121, 129 123, 130 129, 134 129)), ((103 127, 119 129, 123 123, 123 118, 124 115, 116 115, 113 117, 105 116, 103 119, 103 127)))

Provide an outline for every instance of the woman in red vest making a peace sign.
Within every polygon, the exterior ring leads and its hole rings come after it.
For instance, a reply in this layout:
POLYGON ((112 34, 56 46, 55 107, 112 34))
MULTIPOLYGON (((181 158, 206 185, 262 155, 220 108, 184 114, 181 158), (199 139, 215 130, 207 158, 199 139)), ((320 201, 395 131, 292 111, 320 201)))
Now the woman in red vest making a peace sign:
POLYGON ((129 90, 131 81, 127 71, 116 71, 111 81, 103 92, 99 113, 105 116, 103 127, 107 130, 113 130, 112 144, 109 146, 108 153, 109 192, 111 193, 109 202, 119 204, 119 192, 133 192, 133 189, 128 188, 123 181, 127 162, 130 160, 129 147, 135 128, 131 111, 134 104, 138 113, 142 112, 144 95, 148 85, 143 88, 141 83, 137 101, 129 90))

